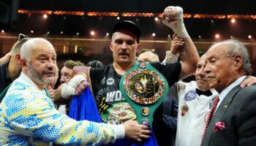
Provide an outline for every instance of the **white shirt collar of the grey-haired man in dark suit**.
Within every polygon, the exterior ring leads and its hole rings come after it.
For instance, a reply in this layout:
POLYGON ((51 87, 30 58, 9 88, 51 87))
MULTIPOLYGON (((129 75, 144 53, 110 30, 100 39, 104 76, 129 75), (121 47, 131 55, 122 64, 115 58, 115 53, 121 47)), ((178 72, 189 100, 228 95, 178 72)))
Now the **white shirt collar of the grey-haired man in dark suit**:
POLYGON ((246 76, 241 76, 239 77, 235 82, 232 82, 229 86, 227 86, 227 88, 225 88, 221 93, 219 93, 219 104, 223 101, 223 99, 225 98, 225 96, 227 96, 227 93, 229 93, 234 87, 236 87, 237 85, 241 84, 241 82, 246 78, 246 76))

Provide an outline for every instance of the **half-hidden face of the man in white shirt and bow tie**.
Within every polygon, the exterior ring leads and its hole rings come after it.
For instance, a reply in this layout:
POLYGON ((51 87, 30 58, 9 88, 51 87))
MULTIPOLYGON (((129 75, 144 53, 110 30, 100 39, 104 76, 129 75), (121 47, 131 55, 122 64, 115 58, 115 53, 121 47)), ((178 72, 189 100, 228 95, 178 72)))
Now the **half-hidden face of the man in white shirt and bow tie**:
POLYGON ((197 69, 195 70, 195 80, 197 82, 197 87, 201 91, 208 91, 210 89, 206 73, 204 72, 205 67, 206 55, 203 55, 197 62, 197 69))

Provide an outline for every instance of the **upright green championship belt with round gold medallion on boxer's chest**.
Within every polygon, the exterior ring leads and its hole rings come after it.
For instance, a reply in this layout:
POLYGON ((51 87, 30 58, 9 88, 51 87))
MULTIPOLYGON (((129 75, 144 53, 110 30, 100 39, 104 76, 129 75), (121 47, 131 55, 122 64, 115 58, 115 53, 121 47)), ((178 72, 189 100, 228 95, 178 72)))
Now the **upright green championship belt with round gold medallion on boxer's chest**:
POLYGON ((149 63, 136 62, 121 78, 120 91, 136 112, 138 123, 152 126, 154 111, 169 89, 167 80, 149 63))

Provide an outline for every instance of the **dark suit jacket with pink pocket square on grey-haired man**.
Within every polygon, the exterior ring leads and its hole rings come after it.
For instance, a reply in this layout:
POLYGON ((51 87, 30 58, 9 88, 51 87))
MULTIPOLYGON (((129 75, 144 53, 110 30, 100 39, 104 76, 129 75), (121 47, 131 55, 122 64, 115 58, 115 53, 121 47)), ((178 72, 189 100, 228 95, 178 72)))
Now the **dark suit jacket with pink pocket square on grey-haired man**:
POLYGON ((201 145, 256 145, 256 85, 245 88, 238 85, 227 93, 201 145), (225 123, 225 128, 214 132, 218 122, 225 123))

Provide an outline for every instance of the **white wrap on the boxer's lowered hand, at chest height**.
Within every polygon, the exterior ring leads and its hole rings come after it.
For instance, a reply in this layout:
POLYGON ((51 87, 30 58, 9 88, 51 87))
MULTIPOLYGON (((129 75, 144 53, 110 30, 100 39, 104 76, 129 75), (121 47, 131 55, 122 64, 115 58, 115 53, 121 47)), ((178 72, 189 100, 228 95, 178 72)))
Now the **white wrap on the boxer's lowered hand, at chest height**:
POLYGON ((69 99, 70 96, 74 96, 75 89, 83 81, 86 81, 86 77, 83 74, 78 74, 75 77, 72 77, 72 79, 67 83, 67 85, 61 89, 61 96, 64 99, 69 99))

